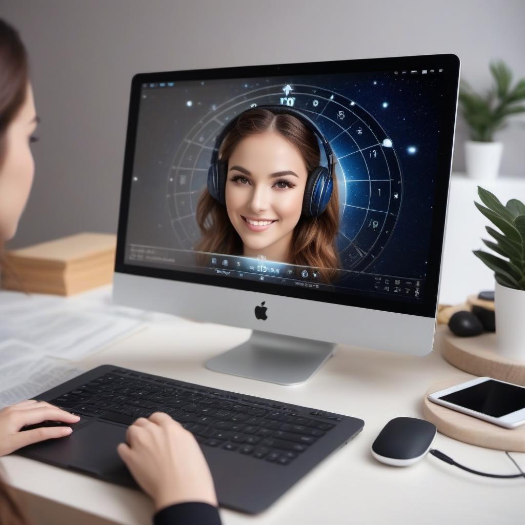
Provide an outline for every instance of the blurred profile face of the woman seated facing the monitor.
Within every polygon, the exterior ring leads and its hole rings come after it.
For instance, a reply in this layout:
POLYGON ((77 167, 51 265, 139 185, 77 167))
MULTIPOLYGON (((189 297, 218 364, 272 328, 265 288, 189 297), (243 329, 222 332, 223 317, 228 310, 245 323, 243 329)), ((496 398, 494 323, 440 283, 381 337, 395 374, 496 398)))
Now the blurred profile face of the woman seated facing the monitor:
POLYGON ((35 164, 29 142, 36 125, 33 90, 28 85, 26 100, 5 134, 4 159, 0 166, 0 243, 15 235, 33 183, 35 164))

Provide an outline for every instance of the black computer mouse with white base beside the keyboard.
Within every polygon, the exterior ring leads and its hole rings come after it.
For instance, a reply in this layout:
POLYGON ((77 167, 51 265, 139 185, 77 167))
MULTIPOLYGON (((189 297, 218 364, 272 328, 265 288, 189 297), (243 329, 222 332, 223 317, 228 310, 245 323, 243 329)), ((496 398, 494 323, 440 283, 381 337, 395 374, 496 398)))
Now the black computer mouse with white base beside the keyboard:
POLYGON ((395 417, 375 438, 372 456, 395 467, 413 465, 425 457, 436 433, 436 426, 424 419, 395 417))

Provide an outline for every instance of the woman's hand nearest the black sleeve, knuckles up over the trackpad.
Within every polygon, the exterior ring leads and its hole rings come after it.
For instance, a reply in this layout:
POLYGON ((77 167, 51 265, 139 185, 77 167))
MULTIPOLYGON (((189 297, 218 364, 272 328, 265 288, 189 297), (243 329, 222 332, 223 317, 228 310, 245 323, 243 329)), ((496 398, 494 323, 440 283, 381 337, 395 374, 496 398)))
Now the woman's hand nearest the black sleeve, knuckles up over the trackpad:
POLYGON ((119 456, 156 510, 174 503, 203 501, 217 506, 206 459, 193 435, 163 412, 140 417, 128 428, 119 456))

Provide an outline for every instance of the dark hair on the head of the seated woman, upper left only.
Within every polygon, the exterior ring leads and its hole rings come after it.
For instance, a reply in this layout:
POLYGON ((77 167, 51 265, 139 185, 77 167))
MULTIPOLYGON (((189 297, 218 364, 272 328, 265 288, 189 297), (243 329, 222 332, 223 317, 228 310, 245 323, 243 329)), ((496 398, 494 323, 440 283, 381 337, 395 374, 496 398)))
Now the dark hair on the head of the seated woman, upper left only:
POLYGON ((6 131, 27 93, 27 53, 12 26, 0 18, 0 167, 6 152, 6 131))

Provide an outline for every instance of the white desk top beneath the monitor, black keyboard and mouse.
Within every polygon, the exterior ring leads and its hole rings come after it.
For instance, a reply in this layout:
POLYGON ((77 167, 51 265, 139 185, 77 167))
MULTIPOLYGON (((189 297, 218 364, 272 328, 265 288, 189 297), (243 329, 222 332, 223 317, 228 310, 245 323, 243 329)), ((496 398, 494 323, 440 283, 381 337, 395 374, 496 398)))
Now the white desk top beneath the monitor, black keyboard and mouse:
MULTIPOLYGON (((323 461, 265 513, 223 509, 225 525, 301 523, 511 523, 521 522, 525 480, 491 480, 427 456, 412 467, 387 467, 370 455, 383 425, 396 416, 422 417, 422 396, 432 382, 458 373, 439 350, 425 358, 339 346, 304 385, 285 387, 206 370, 205 360, 246 340, 249 330, 174 318, 110 345, 82 366, 115 364, 183 381, 364 419, 363 432, 323 461)), ((403 334, 393 333, 400 347, 403 334)), ((438 434, 434 443, 459 463, 514 474, 505 453, 438 434)), ((513 453, 525 469, 525 454, 513 453)), ((141 493, 18 456, 0 460, 22 492, 38 525, 151 523, 152 506, 141 493)))

